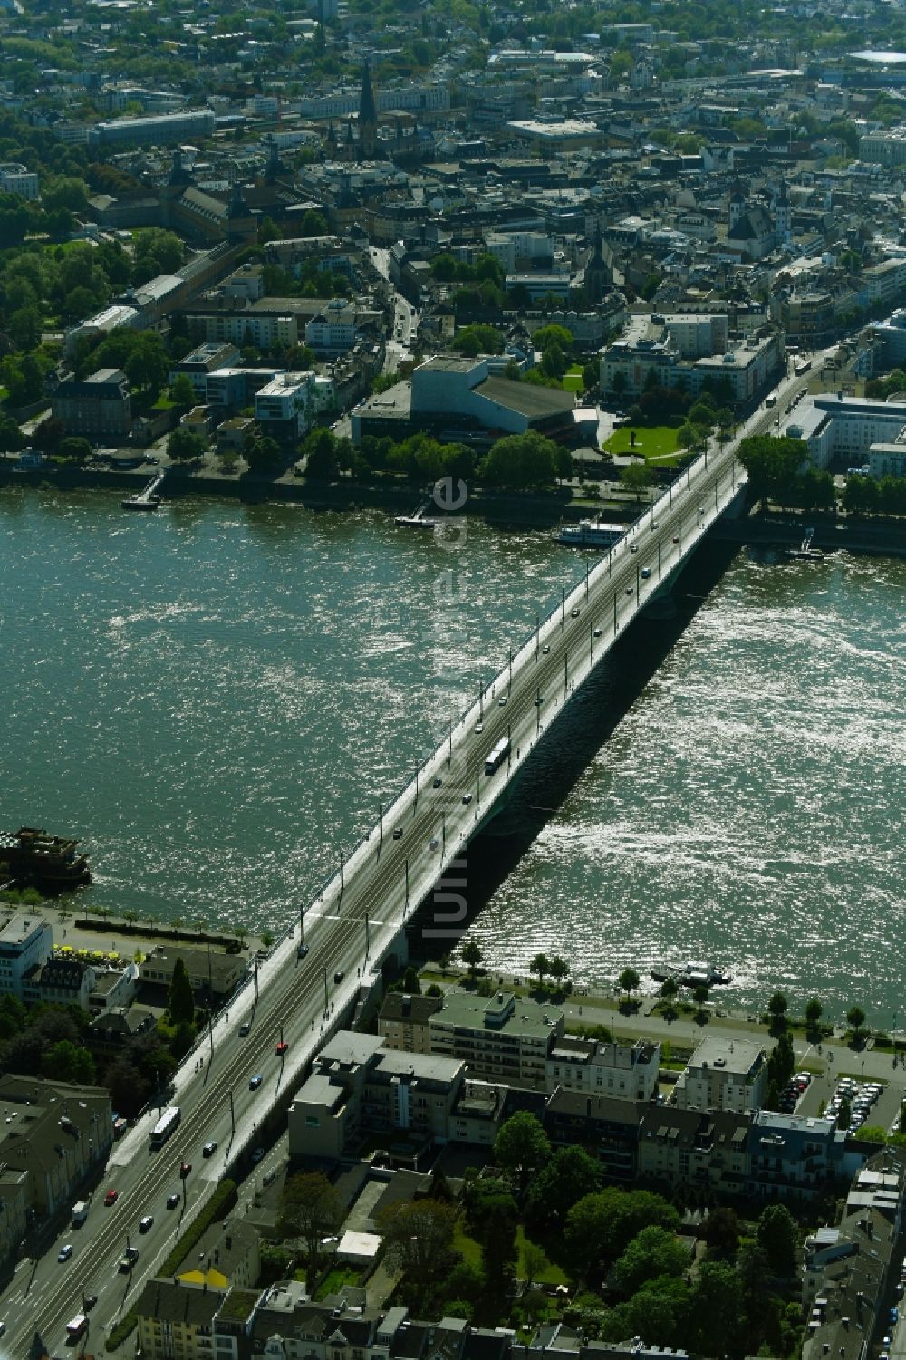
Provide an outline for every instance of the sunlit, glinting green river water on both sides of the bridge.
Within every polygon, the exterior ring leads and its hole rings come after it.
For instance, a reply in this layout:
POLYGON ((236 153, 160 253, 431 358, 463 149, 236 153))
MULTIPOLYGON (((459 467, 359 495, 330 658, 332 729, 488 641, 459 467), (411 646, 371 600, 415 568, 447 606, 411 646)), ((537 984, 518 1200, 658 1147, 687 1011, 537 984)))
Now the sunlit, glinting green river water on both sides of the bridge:
MULTIPOLYGON (((278 929, 584 566, 473 521, 0 492, 0 826, 83 836, 94 907, 278 929)), ((906 564, 740 555, 710 585, 650 676, 641 632, 620 696, 578 698, 614 730, 472 930, 516 971, 701 957, 743 1005, 890 1024, 906 564)))

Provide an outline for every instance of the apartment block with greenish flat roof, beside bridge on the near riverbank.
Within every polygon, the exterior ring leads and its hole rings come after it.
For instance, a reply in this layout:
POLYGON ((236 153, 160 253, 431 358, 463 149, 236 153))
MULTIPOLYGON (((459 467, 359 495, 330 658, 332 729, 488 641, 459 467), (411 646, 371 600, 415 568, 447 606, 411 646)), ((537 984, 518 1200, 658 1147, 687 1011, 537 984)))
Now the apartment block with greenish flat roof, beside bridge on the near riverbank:
POLYGON ((565 1028, 559 1006, 511 991, 480 997, 454 989, 429 1017, 431 1053, 458 1058, 472 1077, 531 1083, 539 1089, 544 1089, 547 1059, 565 1028))

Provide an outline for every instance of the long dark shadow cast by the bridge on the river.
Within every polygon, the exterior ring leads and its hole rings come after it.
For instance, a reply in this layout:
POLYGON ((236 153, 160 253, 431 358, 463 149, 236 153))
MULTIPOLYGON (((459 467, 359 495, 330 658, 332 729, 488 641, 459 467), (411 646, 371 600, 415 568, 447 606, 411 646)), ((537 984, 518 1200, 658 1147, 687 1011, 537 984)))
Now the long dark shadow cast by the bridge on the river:
POLYGON ((414 960, 453 952, 458 937, 566 801, 614 729, 652 680, 739 548, 705 541, 672 589, 673 611, 641 615, 573 695, 524 763, 499 813, 472 839, 458 868, 407 925, 414 960))

